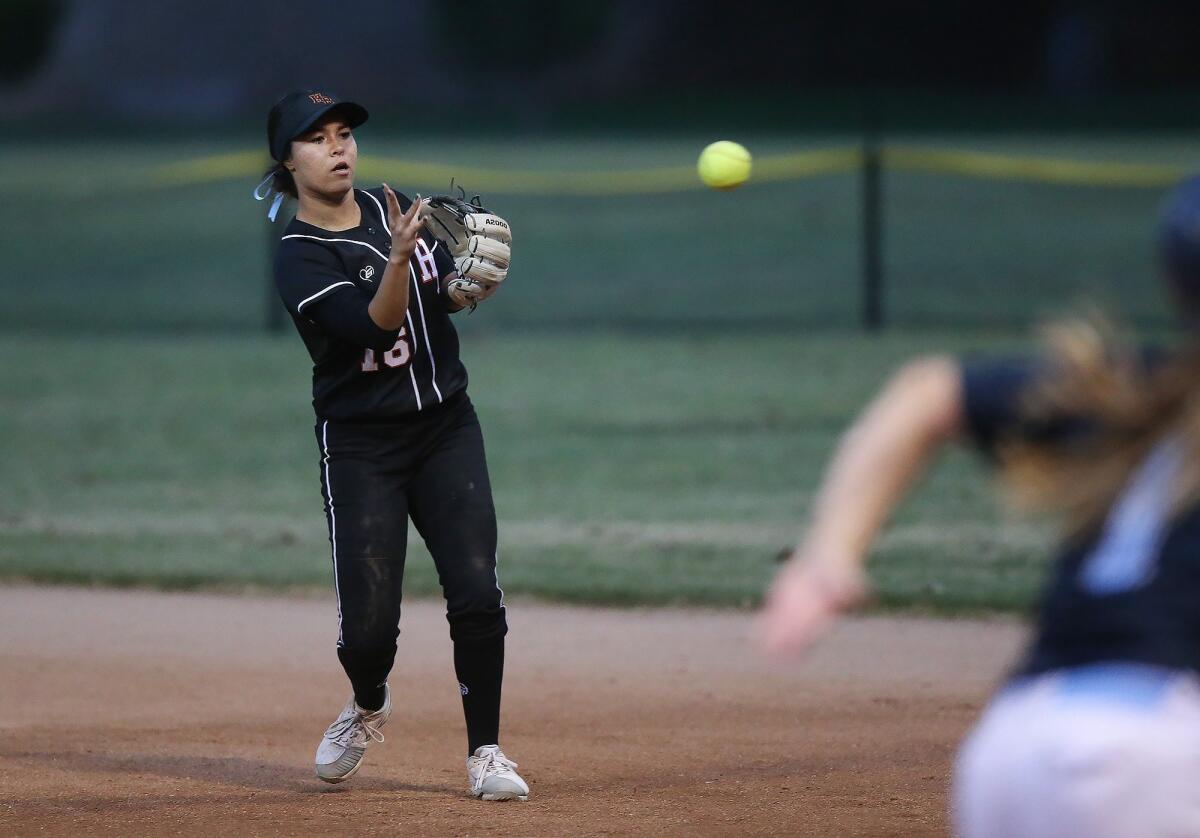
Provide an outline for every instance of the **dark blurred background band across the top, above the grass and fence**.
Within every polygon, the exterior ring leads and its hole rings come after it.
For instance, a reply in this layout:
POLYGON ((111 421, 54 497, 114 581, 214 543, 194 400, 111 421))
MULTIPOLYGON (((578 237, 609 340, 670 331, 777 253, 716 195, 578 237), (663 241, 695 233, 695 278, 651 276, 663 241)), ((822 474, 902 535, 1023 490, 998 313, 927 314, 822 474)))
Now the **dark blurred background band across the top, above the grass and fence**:
POLYGON ((1170 97, 1190 124, 1198 43, 1200 4, 1154 1, 0 0, 0 119, 217 121, 322 79, 380 113, 482 103, 533 126, 637 101, 775 119, 781 96, 863 90, 1026 97, 1050 115, 1170 97))

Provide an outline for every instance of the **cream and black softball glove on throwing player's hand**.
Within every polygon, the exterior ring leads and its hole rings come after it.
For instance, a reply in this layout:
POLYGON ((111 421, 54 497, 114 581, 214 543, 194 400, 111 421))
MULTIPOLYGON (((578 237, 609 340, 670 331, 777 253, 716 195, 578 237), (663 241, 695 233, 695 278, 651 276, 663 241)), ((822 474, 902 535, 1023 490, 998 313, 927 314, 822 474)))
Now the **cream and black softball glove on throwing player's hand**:
POLYGON ((446 295, 455 305, 474 310, 496 293, 509 274, 509 222, 485 209, 479 196, 463 200, 436 194, 421 203, 426 227, 458 269, 458 276, 446 285, 446 295))

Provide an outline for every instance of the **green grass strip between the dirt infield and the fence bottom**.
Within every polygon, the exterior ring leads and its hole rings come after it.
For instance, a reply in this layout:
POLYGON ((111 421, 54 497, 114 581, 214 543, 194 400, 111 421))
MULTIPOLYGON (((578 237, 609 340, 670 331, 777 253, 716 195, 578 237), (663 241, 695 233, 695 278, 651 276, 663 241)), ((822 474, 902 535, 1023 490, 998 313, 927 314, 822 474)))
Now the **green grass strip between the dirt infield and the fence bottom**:
MULTIPOLYGON (((484 313, 476 315, 482 317, 484 313)), ((899 358, 1009 339, 466 341, 514 595, 757 600, 840 429, 899 358)), ((0 575, 168 588, 330 582, 299 339, 0 339, 0 575)), ((953 453, 874 573, 889 606, 1025 605, 1045 533, 953 453)), ((408 587, 436 592, 414 544, 408 587)))

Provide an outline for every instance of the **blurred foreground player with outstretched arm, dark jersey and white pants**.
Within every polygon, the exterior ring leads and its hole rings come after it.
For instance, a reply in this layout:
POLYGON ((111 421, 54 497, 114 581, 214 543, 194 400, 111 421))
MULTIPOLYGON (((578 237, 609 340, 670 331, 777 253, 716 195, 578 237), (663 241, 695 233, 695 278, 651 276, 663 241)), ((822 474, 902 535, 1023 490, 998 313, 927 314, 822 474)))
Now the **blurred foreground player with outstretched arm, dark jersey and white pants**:
POLYGON ((872 539, 955 439, 1062 517, 1032 645, 959 753, 964 838, 1200 836, 1200 178, 1171 197, 1160 247, 1177 348, 1066 323, 1038 361, 908 364, 842 439, 767 597, 767 650, 815 641, 863 598, 872 539))

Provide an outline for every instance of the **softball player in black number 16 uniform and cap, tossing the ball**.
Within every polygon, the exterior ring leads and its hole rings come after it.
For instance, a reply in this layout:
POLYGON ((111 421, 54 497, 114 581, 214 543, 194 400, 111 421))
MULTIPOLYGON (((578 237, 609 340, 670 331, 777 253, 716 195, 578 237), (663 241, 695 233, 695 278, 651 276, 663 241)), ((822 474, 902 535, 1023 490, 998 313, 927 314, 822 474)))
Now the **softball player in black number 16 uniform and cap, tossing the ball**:
POLYGON ((456 261, 424 228, 419 197, 354 188, 353 130, 366 120, 361 106, 326 92, 288 94, 268 118, 276 164, 256 190, 265 197, 270 182, 278 192, 272 220, 284 194, 299 200, 275 280, 313 361, 337 657, 353 688, 317 748, 317 776, 349 779, 372 741, 383 742, 412 517, 446 599, 470 792, 526 800, 528 785, 497 744, 508 624, 496 510, 450 322, 504 279, 509 228, 481 216, 482 234, 462 239, 460 252, 493 261, 456 261))

